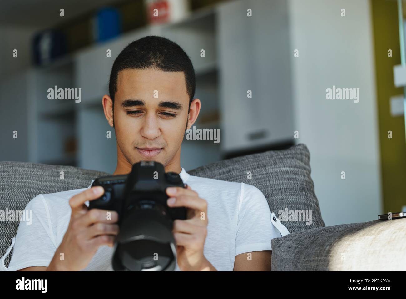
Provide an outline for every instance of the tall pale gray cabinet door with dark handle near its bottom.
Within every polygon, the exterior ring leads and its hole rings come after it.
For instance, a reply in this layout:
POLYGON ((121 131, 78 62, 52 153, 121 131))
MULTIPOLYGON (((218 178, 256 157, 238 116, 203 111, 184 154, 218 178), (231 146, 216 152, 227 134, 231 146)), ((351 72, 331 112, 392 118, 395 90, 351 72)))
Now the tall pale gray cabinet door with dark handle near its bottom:
POLYGON ((293 140, 287 5, 285 0, 244 0, 218 6, 224 152, 293 140), (247 16, 248 8, 255 17, 247 16))

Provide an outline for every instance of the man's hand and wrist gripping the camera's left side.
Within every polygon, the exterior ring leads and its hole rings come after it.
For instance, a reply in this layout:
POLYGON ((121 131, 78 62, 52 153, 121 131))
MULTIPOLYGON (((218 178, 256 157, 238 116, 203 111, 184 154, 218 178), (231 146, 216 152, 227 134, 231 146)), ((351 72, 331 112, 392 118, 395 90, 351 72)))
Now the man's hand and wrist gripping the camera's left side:
POLYGON ((115 236, 119 233, 117 212, 89 210, 84 204, 85 201, 98 199, 103 193, 103 187, 95 186, 69 200, 72 210, 69 226, 47 271, 82 270, 100 246, 114 245, 115 236))

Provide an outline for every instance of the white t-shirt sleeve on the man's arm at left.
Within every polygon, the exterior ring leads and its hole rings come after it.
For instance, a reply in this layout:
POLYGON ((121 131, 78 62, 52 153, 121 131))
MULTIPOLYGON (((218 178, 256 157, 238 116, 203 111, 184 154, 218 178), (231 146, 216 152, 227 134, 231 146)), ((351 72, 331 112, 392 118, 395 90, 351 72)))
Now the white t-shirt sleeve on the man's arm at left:
POLYGON ((56 251, 48 205, 42 194, 33 198, 25 208, 31 216, 21 220, 15 236, 13 255, 8 271, 26 267, 48 267, 56 251), (32 213, 32 214, 31 214, 32 213))

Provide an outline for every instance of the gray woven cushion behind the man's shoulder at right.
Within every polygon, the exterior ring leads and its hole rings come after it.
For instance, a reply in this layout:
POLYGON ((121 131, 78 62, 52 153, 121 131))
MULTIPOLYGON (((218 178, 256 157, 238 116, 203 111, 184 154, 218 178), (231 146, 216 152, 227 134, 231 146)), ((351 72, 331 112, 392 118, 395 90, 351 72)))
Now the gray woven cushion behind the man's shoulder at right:
MULTIPOLYGON (((285 212, 286 208, 288 211, 308 211, 308 215, 311 211, 310 224, 305 221, 281 220, 291 233, 325 226, 310 177, 310 153, 304 144, 281 151, 266 151, 222 160, 190 170, 188 173, 253 185, 265 195, 270 210, 277 217, 279 211, 285 212), (251 179, 248 179, 248 171, 252 174, 251 179)), ((299 216, 299 212, 297 214, 299 216)))

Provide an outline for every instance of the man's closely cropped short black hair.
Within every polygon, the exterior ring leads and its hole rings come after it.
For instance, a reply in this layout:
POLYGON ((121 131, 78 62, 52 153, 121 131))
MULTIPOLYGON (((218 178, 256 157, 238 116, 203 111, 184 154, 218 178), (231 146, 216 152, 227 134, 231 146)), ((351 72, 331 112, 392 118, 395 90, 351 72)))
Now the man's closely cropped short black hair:
POLYGON ((148 68, 166 72, 184 72, 190 109, 190 103, 194 98, 196 89, 196 78, 192 61, 190 61, 186 52, 174 41, 156 35, 149 35, 131 42, 114 60, 108 85, 113 107, 119 72, 121 70, 146 70, 148 68))

